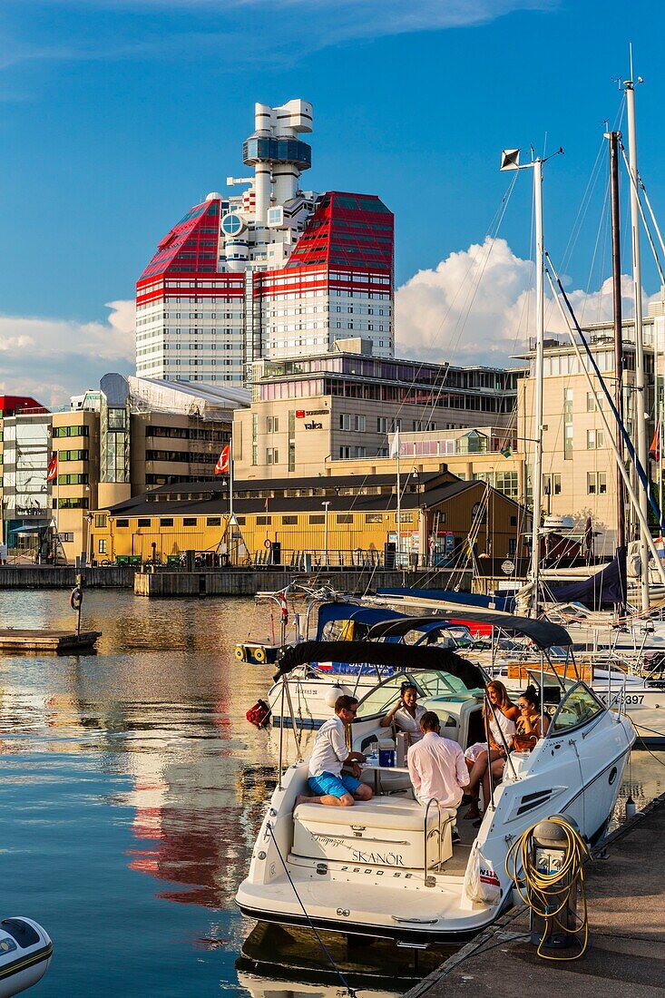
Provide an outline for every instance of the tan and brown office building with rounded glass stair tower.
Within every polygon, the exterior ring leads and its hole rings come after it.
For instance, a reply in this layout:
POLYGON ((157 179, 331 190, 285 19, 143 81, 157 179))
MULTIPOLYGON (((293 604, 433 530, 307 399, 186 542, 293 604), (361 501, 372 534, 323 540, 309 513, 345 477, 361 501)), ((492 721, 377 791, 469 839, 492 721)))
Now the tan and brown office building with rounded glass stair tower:
POLYGON ((57 473, 50 501, 61 554, 68 561, 82 552, 90 557, 90 527, 99 508, 166 483, 214 479, 231 438, 233 410, 248 402, 242 388, 106 374, 99 391, 54 413, 57 473))

